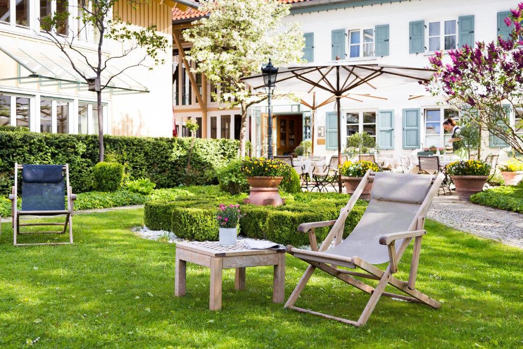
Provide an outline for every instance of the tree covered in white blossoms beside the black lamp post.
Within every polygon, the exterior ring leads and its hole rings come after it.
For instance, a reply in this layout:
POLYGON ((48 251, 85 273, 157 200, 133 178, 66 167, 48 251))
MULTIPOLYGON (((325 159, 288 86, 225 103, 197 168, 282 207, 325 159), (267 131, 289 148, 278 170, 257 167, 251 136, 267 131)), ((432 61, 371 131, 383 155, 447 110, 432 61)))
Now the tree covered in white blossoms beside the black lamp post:
POLYGON ((201 10, 209 18, 194 22, 183 32, 192 42, 187 59, 196 61, 197 73, 204 73, 214 85, 220 84, 218 102, 240 106, 242 126, 240 154, 245 156, 247 108, 266 98, 249 91, 243 77, 259 73, 269 58, 276 66, 300 62, 303 33, 298 23, 281 25, 290 5, 279 0, 202 0, 201 10))

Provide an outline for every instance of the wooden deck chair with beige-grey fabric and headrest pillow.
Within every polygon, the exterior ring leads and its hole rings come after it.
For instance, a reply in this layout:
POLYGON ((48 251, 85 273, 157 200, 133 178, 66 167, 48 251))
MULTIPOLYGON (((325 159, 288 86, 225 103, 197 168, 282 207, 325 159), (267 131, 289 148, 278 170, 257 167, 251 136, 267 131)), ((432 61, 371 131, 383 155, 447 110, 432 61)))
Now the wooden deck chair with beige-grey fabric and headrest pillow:
POLYGON ((338 219, 301 224, 298 231, 309 233, 311 251, 297 249, 289 245, 287 252, 309 263, 310 266, 287 300, 285 307, 341 321, 356 327, 367 322, 381 296, 423 303, 435 309, 439 308, 440 303, 416 290, 415 283, 422 237, 426 234, 423 229, 425 216, 444 177, 445 175, 442 173, 432 176, 390 172, 372 173, 369 170, 362 178, 347 205, 342 208, 338 219), (369 181, 373 181, 373 186, 367 210, 353 232, 342 241, 345 220, 369 181), (321 246, 318 247, 314 229, 329 226, 333 227, 321 246), (413 238, 415 240, 410 277, 408 282, 404 282, 395 278, 393 274, 397 272, 398 263, 413 238), (333 239, 335 239, 334 247, 327 250, 333 239), (375 266, 385 262, 389 262, 389 265, 384 271, 375 266), (341 269, 338 266, 358 267, 365 273, 341 269), (371 295, 367 306, 357 321, 337 318, 294 306, 316 268, 371 295), (374 288, 354 276, 379 280, 379 283, 374 288), (384 292, 387 284, 400 289, 407 296, 384 292))

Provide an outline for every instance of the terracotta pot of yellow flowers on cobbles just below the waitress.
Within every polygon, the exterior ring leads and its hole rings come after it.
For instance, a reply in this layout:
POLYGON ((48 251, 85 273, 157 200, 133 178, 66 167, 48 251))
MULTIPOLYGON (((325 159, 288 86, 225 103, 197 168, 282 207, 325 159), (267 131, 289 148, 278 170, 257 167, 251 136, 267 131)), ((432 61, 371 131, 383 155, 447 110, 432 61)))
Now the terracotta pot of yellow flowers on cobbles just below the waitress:
POLYGON ((447 173, 456 185, 456 193, 461 200, 483 190, 490 173, 491 165, 481 160, 454 161, 447 165, 447 173))

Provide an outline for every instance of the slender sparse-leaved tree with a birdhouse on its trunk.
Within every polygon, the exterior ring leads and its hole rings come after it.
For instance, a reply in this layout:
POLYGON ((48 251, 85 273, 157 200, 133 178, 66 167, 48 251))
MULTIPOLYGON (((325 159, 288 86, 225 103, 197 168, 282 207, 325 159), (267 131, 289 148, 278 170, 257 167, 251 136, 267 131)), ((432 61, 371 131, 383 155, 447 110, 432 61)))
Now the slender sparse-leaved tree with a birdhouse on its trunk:
MULTIPOLYGON (((136 7, 140 0, 127 0, 127 4, 136 7)), ((123 22, 118 14, 113 13, 113 7, 118 0, 78 0, 74 6, 78 14, 73 15, 66 9, 67 0, 58 0, 57 8, 53 14, 40 18, 40 26, 44 33, 41 36, 55 44, 65 55, 71 64, 71 68, 86 82, 95 81, 95 90, 98 106, 98 161, 104 161, 104 111, 101 106, 101 93, 110 86, 110 83, 124 71, 136 66, 144 66, 152 69, 152 65, 163 64, 164 60, 159 57, 161 51, 168 48, 168 40, 156 32, 156 26, 147 28, 136 28, 131 23, 123 22), (89 5, 90 3, 90 5, 89 5), (70 26, 71 16, 79 21, 79 28, 70 26), (87 32, 95 31, 98 34, 97 50, 95 57, 88 57, 85 51, 76 46, 85 38, 87 32), (106 55, 104 50, 105 40, 112 40, 122 47, 121 52, 114 55, 106 55), (141 51, 139 50, 141 49, 141 51), (135 57, 135 61, 122 62, 122 59, 135 57), (108 71, 108 63, 117 63, 118 69, 108 71), (82 69, 77 62, 87 65, 87 71, 82 69), (101 76, 105 77, 101 82, 101 76)))

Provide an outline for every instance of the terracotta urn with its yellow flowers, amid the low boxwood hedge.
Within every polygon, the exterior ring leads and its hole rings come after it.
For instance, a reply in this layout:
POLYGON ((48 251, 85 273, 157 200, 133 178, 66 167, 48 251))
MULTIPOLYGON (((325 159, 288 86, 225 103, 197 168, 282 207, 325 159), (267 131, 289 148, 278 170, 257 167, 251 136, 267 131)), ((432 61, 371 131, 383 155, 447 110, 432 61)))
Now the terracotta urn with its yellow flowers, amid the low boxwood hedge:
POLYGON ((244 200, 245 204, 283 205, 278 185, 283 177, 291 175, 291 166, 265 157, 246 157, 242 163, 242 172, 251 186, 249 197, 244 200))

